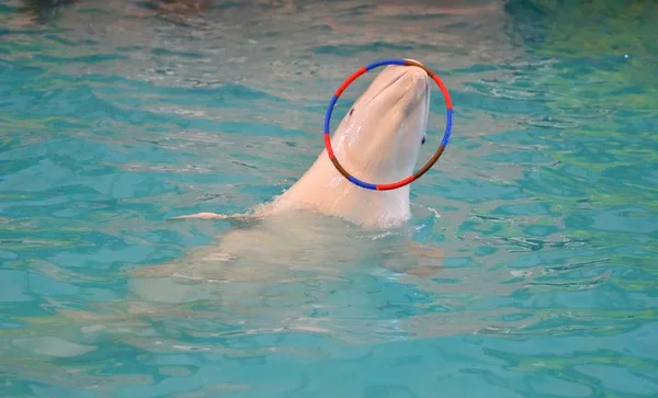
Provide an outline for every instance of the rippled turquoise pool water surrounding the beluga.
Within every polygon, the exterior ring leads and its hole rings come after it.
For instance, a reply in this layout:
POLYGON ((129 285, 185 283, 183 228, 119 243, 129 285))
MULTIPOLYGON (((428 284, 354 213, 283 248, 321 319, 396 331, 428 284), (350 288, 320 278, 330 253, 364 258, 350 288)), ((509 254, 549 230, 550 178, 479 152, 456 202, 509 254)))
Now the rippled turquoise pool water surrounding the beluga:
POLYGON ((656 396, 656 2, 455 3, 0 4, 0 396, 656 396), (340 264, 171 276, 236 227, 167 218, 281 193, 385 57, 453 96, 409 229, 443 270, 325 220, 340 264))

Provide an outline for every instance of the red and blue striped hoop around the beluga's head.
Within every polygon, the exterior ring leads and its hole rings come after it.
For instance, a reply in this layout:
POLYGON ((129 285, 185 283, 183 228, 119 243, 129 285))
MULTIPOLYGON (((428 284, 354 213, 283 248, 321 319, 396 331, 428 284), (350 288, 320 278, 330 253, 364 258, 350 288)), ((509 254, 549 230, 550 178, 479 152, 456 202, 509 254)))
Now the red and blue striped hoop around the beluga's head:
POLYGON ((373 191, 397 190, 398 187, 405 186, 405 185, 410 184, 411 182, 418 180, 422 174, 428 172, 428 170, 430 170, 432 168, 432 166, 434 166, 436 160, 439 160, 441 155, 443 155, 443 151, 445 150, 445 147, 447 146, 447 141, 450 140, 450 135, 452 132, 452 115, 453 115, 453 106, 452 106, 452 100, 450 99, 450 93, 447 92, 447 88, 445 87, 445 84, 443 84, 443 81, 441 81, 441 79, 439 78, 439 76, 436 73, 434 73, 433 71, 428 69, 424 65, 413 61, 411 59, 383 59, 383 60, 373 62, 368 66, 365 66, 365 67, 356 70, 354 73, 352 73, 352 76, 350 76, 345 81, 343 81, 343 83, 338 88, 338 90, 336 90, 336 93, 331 98, 331 101, 329 102, 329 106, 327 107, 327 113, 325 114, 325 148, 327 149, 327 155, 329 155, 329 159, 331 159, 331 162, 333 163, 336 169, 338 169, 338 171, 345 179, 351 181, 352 183, 354 183, 361 187, 364 187, 366 190, 373 190, 373 191), (445 133, 443 133, 443 139, 441 140, 441 145, 439 146, 439 149, 436 149, 436 151, 434 152, 432 158, 422 168, 420 168, 412 175, 410 175, 404 180, 400 180, 398 182, 386 183, 386 184, 372 184, 372 183, 359 180, 354 175, 350 174, 340 164, 340 162, 336 158, 336 155, 333 153, 333 148, 331 148, 331 137, 329 135, 329 133, 330 133, 329 124, 331 122, 331 113, 333 112, 333 107, 336 106, 336 103, 338 102, 338 98, 343 93, 343 91, 345 91, 345 89, 354 80, 360 78, 362 75, 365 75, 367 71, 378 68, 381 66, 385 66, 385 65, 415 66, 415 67, 419 67, 419 68, 423 69, 428 73, 428 76, 430 78, 432 78, 432 80, 434 80, 434 82, 439 86, 439 88, 441 89, 441 92, 443 93, 443 99, 445 100, 445 112, 446 112, 447 120, 445 121, 445 133))

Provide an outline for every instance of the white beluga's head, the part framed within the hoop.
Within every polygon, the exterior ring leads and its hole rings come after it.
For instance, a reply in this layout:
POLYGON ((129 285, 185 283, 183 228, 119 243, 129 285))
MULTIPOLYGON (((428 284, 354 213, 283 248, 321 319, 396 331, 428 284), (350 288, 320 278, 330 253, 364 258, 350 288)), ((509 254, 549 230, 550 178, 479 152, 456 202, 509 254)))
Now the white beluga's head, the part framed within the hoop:
POLYGON ((352 175, 390 183, 413 173, 427 138, 430 77, 416 66, 387 66, 334 130, 336 157, 352 175))

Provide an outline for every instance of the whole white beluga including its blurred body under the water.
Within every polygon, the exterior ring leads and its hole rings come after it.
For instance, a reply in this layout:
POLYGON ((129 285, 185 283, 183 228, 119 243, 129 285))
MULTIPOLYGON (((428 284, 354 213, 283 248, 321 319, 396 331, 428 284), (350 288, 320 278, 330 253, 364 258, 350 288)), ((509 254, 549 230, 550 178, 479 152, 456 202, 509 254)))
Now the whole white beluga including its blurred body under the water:
MULTIPOLYGON (((331 136, 343 168, 370 183, 411 175, 426 140, 430 83, 422 68, 384 68, 331 136)), ((370 328, 398 333, 396 319, 373 318, 388 300, 376 292, 389 283, 395 285, 390 291, 405 292, 413 284, 431 285, 443 265, 441 249, 410 239, 416 231, 410 217, 409 185, 392 191, 358 186, 322 150, 288 190, 251 211, 175 217, 225 219, 231 226, 181 258, 126 264, 128 294, 116 311, 139 319, 220 320, 250 332, 347 337, 362 321, 367 339, 370 328)), ((420 218, 424 221, 424 215, 420 218)))

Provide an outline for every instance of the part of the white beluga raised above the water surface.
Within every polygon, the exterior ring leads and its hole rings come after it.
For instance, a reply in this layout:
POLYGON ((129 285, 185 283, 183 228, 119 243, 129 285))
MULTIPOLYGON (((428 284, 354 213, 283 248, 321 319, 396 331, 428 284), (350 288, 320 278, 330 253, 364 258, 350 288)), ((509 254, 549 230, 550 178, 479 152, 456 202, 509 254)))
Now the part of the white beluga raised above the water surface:
MULTIPOLYGON (((431 79, 416 66, 384 68, 353 103, 331 136, 336 157, 362 181, 390 183, 413 173, 427 139, 431 79)), ((304 175, 251 213, 197 213, 174 219, 262 218, 307 209, 367 229, 400 227, 411 216, 409 185, 371 191, 348 181, 322 150, 304 175)))

